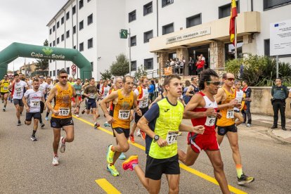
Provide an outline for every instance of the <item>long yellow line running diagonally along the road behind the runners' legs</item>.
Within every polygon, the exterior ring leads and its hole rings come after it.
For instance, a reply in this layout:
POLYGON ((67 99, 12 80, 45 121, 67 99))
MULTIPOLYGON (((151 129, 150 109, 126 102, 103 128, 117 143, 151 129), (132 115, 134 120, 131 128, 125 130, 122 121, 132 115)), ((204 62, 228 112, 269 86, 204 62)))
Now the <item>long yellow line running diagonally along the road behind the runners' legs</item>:
MULTIPOLYGON (((75 117, 75 116, 72 116, 72 117, 74 117, 75 119, 79 119, 80 121, 85 122, 86 124, 89 124, 92 127, 94 127, 94 125, 91 122, 88 122, 85 119, 81 119, 81 118, 78 118, 78 117, 75 117)), ((100 129, 101 131, 104 131, 105 133, 108 133, 108 134, 112 135, 112 132, 111 131, 108 131, 107 129, 104 129, 102 127, 98 127, 98 129, 100 129)), ((134 145, 134 146, 136 146, 136 148, 140 148, 141 150, 145 150, 145 146, 143 146, 141 144, 131 143, 131 145, 134 145)), ((202 172, 199 172, 198 170, 195 170, 193 168, 187 167, 185 164, 181 164, 180 163, 180 167, 181 167, 181 169, 184 169, 184 170, 186 170, 186 171, 188 171, 188 172, 190 172, 192 174, 195 174, 196 176, 199 176, 202 179, 205 179, 206 181, 209 181, 209 182, 214 183, 214 184, 216 184, 216 185, 219 186, 219 183, 212 176, 209 176, 207 174, 204 174, 202 172)), ((246 194, 243 190, 240 190, 240 189, 235 188, 233 186, 228 185, 228 188, 233 193, 246 194)))

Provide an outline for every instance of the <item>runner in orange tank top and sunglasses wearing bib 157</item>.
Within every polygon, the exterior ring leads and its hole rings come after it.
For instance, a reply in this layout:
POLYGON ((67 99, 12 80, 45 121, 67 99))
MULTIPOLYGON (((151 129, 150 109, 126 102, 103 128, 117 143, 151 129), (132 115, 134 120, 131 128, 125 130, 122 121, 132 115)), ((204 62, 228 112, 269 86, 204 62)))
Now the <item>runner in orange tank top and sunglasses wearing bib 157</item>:
MULTIPOLYGON (((58 74, 58 84, 53 86, 48 98, 46 99, 46 106, 51 112, 51 127, 53 128, 53 166, 58 165, 58 145, 60 145, 60 152, 65 152, 65 142, 74 141, 74 122, 72 120, 71 112, 71 98, 75 97, 75 103, 79 104, 79 98, 75 88, 67 83, 67 72, 60 70, 58 74), (55 99, 54 107, 51 105, 51 101, 55 99), (60 129, 65 130, 66 136, 60 136, 60 129)), ((77 105, 76 114, 79 113, 79 105, 77 105)))

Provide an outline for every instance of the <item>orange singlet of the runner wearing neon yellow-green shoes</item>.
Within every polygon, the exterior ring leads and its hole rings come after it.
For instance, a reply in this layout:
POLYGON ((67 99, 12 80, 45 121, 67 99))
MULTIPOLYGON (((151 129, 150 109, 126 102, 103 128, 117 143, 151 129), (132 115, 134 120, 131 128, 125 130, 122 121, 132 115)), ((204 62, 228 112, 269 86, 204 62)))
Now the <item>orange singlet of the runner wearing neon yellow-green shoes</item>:
POLYGON ((130 110, 134 105, 134 92, 131 91, 129 96, 122 96, 122 89, 117 90, 118 101, 114 105, 112 128, 121 127, 123 129, 130 128, 130 110))

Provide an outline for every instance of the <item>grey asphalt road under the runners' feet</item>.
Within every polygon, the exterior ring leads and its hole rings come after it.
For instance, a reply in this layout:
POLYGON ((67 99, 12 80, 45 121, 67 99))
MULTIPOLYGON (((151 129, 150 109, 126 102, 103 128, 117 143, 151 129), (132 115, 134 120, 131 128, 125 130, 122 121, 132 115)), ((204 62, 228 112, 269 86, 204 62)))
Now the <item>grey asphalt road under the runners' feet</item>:
MULTIPOLYGON (((1 104, 1 103, 0 103, 1 104)), ((1 105, 2 109, 2 105, 1 105)), ((44 119, 43 114, 43 119, 44 119)), ((124 172, 122 160, 116 167, 119 176, 106 170, 105 153, 110 143, 115 144, 110 127, 93 129, 91 115, 74 118, 75 141, 66 144, 65 153, 59 153, 60 165, 53 167, 53 131, 48 121, 37 131, 39 141, 32 142, 32 126, 16 126, 15 110, 8 103, 6 112, 0 112, 0 193, 105 193, 96 180, 106 179, 120 193, 147 193, 134 172, 124 172)), ((189 121, 184 121, 189 123, 189 121)), ((233 193, 290 193, 291 147, 266 135, 265 127, 239 127, 240 153, 245 174, 255 181, 238 186, 235 164, 227 138, 221 144, 221 155, 228 185, 233 193)), ((64 133, 64 131, 62 131, 64 133)), ((186 134, 179 136, 179 148, 186 150, 186 134)), ((144 141, 136 137, 127 156, 137 154, 141 167, 145 167, 144 141)), ((213 183, 213 169, 207 155, 202 152, 190 168, 181 166, 180 193, 221 193, 213 183)), ((160 193, 167 193, 167 181, 162 178, 160 193)))

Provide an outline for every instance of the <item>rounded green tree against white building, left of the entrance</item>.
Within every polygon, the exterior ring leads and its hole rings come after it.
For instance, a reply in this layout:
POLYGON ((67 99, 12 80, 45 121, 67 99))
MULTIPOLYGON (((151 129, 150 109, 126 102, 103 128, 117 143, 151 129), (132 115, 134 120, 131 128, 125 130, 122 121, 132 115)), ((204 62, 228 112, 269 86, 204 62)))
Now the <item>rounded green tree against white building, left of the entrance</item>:
POLYGON ((129 60, 123 53, 116 57, 116 61, 110 66, 110 72, 114 76, 124 76, 129 73, 129 60))

